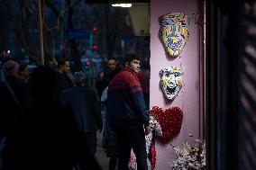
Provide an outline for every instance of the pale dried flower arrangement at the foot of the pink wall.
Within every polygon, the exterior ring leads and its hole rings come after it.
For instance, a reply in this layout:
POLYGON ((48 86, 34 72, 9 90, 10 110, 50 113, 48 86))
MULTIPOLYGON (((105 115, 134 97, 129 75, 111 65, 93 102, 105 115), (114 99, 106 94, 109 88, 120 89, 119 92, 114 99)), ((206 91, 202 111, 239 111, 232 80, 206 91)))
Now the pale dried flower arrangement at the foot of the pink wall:
POLYGON ((206 142, 196 139, 194 147, 187 143, 183 148, 174 147, 177 158, 171 166, 174 170, 205 170, 206 169, 206 142))

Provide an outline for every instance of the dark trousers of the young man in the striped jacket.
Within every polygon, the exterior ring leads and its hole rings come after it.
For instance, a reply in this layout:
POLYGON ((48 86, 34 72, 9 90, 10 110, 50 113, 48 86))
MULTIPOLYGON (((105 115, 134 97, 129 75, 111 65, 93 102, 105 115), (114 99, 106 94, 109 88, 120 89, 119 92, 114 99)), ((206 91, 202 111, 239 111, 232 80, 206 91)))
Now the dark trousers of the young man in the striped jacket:
POLYGON ((133 148, 137 161, 137 170, 148 170, 146 141, 142 124, 115 126, 113 128, 119 149, 118 169, 128 170, 133 148))

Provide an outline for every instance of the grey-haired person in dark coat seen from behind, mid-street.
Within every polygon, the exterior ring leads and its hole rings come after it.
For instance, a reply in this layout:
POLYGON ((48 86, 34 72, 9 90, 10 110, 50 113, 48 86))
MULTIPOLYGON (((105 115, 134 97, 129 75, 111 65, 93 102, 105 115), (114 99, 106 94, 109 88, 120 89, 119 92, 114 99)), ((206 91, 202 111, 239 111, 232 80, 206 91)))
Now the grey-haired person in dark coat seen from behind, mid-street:
POLYGON ((61 103, 69 106, 78 122, 79 130, 85 145, 91 153, 96 153, 96 131, 103 128, 100 104, 96 99, 96 93, 86 87, 86 74, 76 72, 74 74, 76 86, 63 92, 61 103))

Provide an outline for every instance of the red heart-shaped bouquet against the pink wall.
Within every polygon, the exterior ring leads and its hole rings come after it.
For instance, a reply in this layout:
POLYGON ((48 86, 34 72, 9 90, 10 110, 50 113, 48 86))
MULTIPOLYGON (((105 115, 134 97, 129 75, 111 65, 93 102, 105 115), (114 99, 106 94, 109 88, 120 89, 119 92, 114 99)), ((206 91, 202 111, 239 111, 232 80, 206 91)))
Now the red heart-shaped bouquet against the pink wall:
POLYGON ((160 122, 162 136, 158 138, 161 143, 168 143, 170 139, 176 137, 181 129, 183 112, 178 107, 170 107, 163 110, 158 106, 153 106, 151 113, 160 122))

